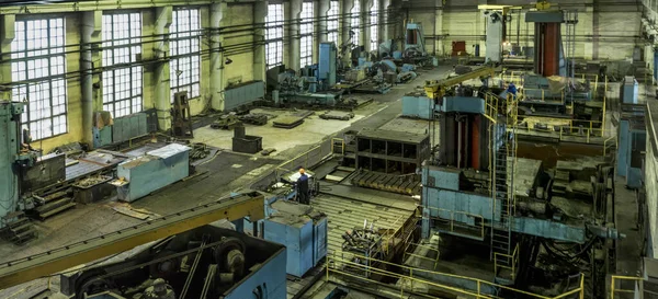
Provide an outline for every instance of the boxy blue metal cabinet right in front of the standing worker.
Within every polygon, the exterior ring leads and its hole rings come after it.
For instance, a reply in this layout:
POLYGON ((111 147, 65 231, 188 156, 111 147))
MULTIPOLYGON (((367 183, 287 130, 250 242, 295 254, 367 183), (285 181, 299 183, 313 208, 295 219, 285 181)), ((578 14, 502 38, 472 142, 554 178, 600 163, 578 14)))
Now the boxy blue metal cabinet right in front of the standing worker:
POLYGON ((272 204, 263 220, 263 238, 287 248, 286 273, 303 277, 327 255, 327 217, 313 207, 287 200, 272 204))

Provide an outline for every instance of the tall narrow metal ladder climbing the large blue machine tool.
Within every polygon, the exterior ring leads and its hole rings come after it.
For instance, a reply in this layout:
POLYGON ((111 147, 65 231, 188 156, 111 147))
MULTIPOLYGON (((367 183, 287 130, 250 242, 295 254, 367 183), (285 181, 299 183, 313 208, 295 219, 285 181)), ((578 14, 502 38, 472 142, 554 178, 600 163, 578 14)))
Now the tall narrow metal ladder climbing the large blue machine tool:
POLYGON ((517 100, 509 95, 506 107, 506 122, 499 122, 498 129, 491 137, 492 212, 500 216, 491 223, 491 258, 497 283, 513 284, 519 256, 519 246, 512 239, 515 212, 513 173, 517 165, 517 100))

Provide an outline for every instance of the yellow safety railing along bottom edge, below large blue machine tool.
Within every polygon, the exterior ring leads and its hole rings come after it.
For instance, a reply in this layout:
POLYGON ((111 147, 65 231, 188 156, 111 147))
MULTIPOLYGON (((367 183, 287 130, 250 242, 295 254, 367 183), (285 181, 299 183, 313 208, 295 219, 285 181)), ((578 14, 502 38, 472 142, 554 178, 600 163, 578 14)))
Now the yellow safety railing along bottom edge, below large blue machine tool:
MULTIPOLYGON (((458 296, 463 296, 466 298, 488 298, 488 299, 495 299, 495 298, 500 298, 496 295, 486 292, 487 290, 497 290, 497 291, 504 291, 509 298, 515 298, 515 297, 524 297, 524 298, 530 298, 530 299, 561 299, 561 298, 571 298, 570 296, 578 296, 580 299, 585 298, 585 277, 583 275, 580 275, 580 284, 578 287, 570 289, 561 295, 558 295, 556 297, 548 297, 548 296, 543 296, 543 295, 537 295, 537 294, 533 294, 530 291, 524 291, 524 290, 520 290, 520 289, 515 289, 512 287, 508 287, 508 286, 502 286, 502 285, 497 285, 487 280, 481 280, 481 279, 477 279, 477 278, 473 278, 473 277, 466 277, 466 276, 461 276, 461 275, 454 275, 454 274, 447 274, 447 273, 441 273, 441 272, 434 272, 434 271, 429 271, 429 269, 423 269, 423 268, 417 268, 417 267, 410 267, 410 266, 406 266, 406 265, 400 265, 400 264, 395 264, 395 263, 390 263, 390 262, 385 262, 385 261, 371 261, 370 264, 371 265, 382 265, 383 267, 386 266, 387 268, 396 268, 399 269, 398 273, 394 273, 394 272, 388 272, 382 268, 376 268, 376 267, 370 267, 368 271, 374 274, 374 276, 381 277, 382 279, 373 279, 371 277, 364 277, 359 275, 359 271, 354 271, 354 269, 359 269, 359 268, 364 268, 366 267, 365 265, 361 264, 361 263, 354 263, 353 258, 360 258, 361 260, 374 260, 374 258, 370 258, 367 256, 359 256, 359 255, 349 255, 351 256, 350 258, 344 258, 342 254, 331 254, 331 255, 327 255, 327 267, 326 267, 326 280, 330 281, 333 275, 337 275, 336 278, 338 278, 338 276, 342 276, 342 277, 349 277, 351 281, 365 281, 368 284, 373 284, 373 285, 382 285, 381 280, 387 280, 387 279, 396 279, 397 284, 396 285, 387 285, 390 288, 395 288, 399 290, 399 298, 407 298, 405 297, 405 295, 420 295, 422 297, 427 297, 427 298, 435 298, 433 296, 429 296, 429 295, 422 295, 419 294, 419 291, 415 291, 415 286, 420 286, 420 285, 424 285, 424 286, 429 286, 432 289, 436 289, 440 291, 447 291, 447 292, 452 292, 452 294, 457 294, 458 296), (345 269, 347 268, 347 269, 345 269), (351 269, 351 271, 350 271, 351 269), (426 278, 426 277, 432 277, 432 279, 426 278), (446 284, 441 284, 438 283, 438 279, 434 279, 436 277, 444 277, 444 278, 449 278, 451 280, 455 280, 455 279, 461 279, 464 281, 464 284, 461 285, 470 285, 473 286, 473 289, 466 289, 466 288, 462 288, 462 287, 455 287, 455 286, 451 286, 451 285, 446 285, 446 284)), ((338 283, 341 284, 341 281, 339 279, 333 279, 333 283, 338 283)), ((427 288, 426 288, 427 289, 427 288)), ((508 297, 506 296, 506 297, 508 297)))

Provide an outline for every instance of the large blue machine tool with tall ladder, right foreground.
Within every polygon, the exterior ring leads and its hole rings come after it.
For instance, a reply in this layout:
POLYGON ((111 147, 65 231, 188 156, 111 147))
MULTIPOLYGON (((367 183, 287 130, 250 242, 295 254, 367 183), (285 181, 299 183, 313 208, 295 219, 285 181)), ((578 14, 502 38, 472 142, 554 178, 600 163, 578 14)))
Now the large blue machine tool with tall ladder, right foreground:
POLYGON ((500 284, 517 277, 518 235, 577 244, 593 237, 623 238, 592 218, 563 217, 560 206, 551 202, 551 179, 542 162, 515 156, 515 100, 490 92, 483 97, 429 103, 441 140, 422 168, 423 238, 440 232, 488 240, 500 284))

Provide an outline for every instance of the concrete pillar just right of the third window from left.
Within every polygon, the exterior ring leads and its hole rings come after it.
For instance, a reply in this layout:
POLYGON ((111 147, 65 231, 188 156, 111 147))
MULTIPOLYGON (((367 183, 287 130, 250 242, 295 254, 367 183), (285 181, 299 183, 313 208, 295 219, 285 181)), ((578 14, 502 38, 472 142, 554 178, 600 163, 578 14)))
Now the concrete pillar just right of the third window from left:
POLYGON ((216 111, 224 111, 224 53, 222 43, 224 37, 219 34, 224 11, 227 10, 226 2, 211 5, 211 106, 216 111))

